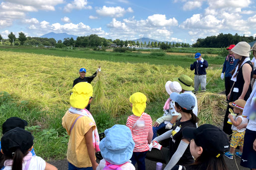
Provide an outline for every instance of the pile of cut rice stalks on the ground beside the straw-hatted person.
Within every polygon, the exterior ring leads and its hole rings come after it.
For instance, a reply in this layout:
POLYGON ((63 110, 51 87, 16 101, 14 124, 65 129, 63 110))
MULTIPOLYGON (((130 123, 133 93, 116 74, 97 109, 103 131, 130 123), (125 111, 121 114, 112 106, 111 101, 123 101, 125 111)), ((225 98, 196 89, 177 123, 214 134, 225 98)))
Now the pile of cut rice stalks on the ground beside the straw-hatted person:
POLYGON ((226 96, 216 93, 197 93, 199 125, 213 124, 220 126, 227 108, 226 96))

